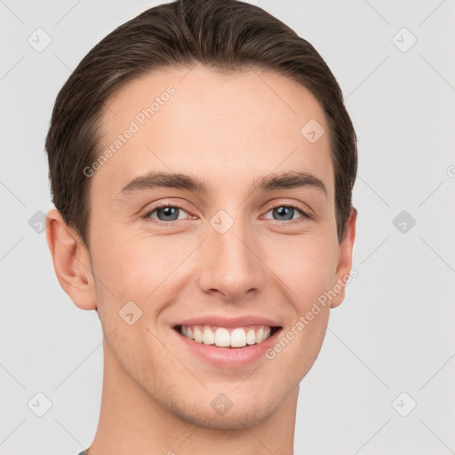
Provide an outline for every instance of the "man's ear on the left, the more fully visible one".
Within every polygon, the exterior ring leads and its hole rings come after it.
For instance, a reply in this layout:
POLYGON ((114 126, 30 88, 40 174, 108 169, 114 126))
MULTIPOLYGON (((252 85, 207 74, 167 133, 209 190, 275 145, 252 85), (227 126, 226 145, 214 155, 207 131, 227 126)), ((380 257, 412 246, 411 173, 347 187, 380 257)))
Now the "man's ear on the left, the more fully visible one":
POLYGON ((46 214, 46 238, 60 286, 77 307, 97 307, 90 255, 57 209, 46 214))

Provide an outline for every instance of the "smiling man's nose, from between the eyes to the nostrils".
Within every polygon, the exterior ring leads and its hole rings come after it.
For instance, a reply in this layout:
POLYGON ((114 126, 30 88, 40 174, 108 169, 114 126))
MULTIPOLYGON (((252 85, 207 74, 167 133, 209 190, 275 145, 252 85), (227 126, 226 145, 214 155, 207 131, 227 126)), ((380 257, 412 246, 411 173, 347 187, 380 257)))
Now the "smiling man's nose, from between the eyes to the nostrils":
POLYGON ((251 229, 235 220, 224 233, 208 226, 207 236, 199 251, 202 291, 231 303, 263 291, 267 267, 251 229))

